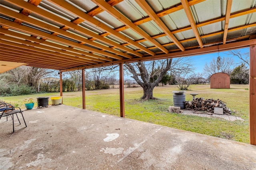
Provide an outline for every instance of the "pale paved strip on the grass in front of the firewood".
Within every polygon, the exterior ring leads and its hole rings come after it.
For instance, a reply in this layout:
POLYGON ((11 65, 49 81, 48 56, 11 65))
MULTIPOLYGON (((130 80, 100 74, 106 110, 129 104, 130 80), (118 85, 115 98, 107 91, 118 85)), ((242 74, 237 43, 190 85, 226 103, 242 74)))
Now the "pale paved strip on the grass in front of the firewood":
POLYGON ((232 116, 232 115, 216 115, 216 114, 208 115, 204 113, 193 113, 193 111, 189 111, 189 110, 182 110, 182 111, 183 111, 182 113, 183 115, 194 115, 194 116, 201 116, 201 117, 218 117, 218 118, 226 119, 229 121, 244 120, 241 117, 232 116))

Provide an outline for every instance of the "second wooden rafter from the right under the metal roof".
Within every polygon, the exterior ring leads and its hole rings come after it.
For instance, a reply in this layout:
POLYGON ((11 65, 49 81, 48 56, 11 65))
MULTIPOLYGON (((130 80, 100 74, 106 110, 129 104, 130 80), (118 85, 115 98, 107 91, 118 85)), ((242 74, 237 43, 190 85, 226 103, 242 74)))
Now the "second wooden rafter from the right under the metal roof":
POLYGON ((203 48, 202 39, 200 38, 200 35, 199 35, 198 29, 196 27, 196 23, 194 21, 194 18, 192 16, 192 12, 190 10, 190 6, 188 4, 188 1, 187 0, 181 0, 181 3, 182 3, 182 6, 184 8, 184 11, 186 13, 186 16, 188 17, 188 21, 190 22, 192 30, 193 30, 193 32, 194 32, 194 34, 196 36, 196 40, 197 40, 200 48, 203 48))

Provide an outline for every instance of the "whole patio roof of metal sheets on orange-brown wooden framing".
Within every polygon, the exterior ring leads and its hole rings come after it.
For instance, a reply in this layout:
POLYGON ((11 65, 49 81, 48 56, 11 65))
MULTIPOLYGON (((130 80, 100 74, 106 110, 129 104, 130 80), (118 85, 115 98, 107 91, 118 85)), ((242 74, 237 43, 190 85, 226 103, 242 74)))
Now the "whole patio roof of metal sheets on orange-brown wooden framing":
POLYGON ((0 0, 0 60, 61 71, 256 44, 256 0, 0 0))

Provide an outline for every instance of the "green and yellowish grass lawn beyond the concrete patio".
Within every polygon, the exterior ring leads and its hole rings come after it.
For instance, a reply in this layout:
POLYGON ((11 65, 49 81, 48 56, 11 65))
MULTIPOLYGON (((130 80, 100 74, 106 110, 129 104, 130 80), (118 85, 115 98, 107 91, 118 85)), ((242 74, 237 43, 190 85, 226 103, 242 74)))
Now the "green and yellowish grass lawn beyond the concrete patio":
MULTIPOLYGON (((226 102, 244 121, 226 121, 224 119, 206 118, 192 115, 182 115, 168 112, 168 106, 173 106, 172 91, 176 86, 158 86, 154 88, 154 97, 158 100, 142 102, 142 88, 125 88, 125 117, 158 125, 173 127, 186 131, 202 133, 242 143, 249 143, 249 85, 231 85, 230 89, 210 89, 210 85, 192 85, 186 92, 186 101, 192 100, 190 93, 198 93, 196 97, 214 98, 226 102)), ((0 100, 10 102, 24 108, 25 98, 59 96, 59 93, 34 94, 29 96, 0 97, 0 100)), ((49 99, 49 104, 51 100, 49 99)), ((82 92, 64 92, 63 104, 82 108, 82 92)), ((35 103, 35 107, 37 104, 35 103)), ((86 109, 120 115, 119 89, 86 91, 86 109)))

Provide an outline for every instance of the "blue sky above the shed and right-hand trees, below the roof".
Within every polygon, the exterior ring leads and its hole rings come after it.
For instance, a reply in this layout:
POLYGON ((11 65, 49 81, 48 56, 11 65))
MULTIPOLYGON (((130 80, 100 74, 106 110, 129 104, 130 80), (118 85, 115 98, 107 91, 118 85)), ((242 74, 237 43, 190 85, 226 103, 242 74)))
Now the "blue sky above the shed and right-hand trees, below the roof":
MULTIPOLYGON (((243 48, 243 49, 238 49, 238 50, 241 51, 241 53, 248 52, 248 48, 243 48)), ((228 51, 220 52, 219 56, 221 58, 232 57, 232 55, 227 55, 227 53, 228 53, 228 51)), ((198 72, 202 73, 203 69, 204 69, 204 65, 206 63, 209 64, 213 58, 217 59, 217 57, 218 57, 218 53, 210 53, 210 54, 205 54, 205 55, 192 56, 191 59, 192 59, 192 61, 194 61, 194 67, 196 68, 195 73, 198 73, 198 72)), ((234 59, 234 63, 236 63, 236 64, 241 62, 241 60, 238 57, 233 57, 233 59, 234 59)))

